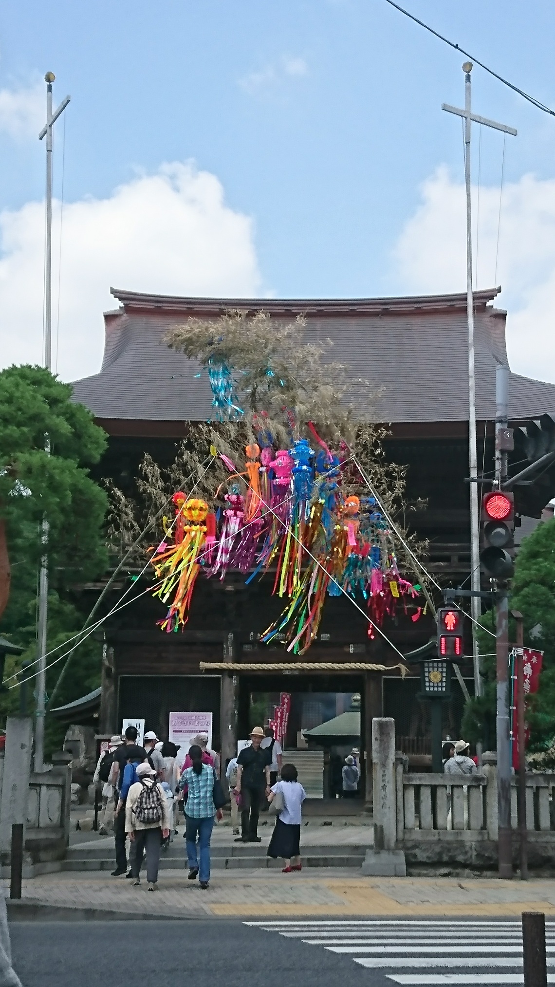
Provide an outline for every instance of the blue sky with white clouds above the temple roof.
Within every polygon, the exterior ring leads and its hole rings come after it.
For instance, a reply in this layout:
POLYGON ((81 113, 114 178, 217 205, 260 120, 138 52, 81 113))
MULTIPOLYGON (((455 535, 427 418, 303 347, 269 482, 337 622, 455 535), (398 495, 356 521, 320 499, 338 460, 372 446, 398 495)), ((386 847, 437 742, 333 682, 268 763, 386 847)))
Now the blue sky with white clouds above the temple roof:
MULTIPOLYGON (((555 108, 551 0, 405 0, 555 108)), ((3 0, 0 366, 42 359, 53 71, 53 367, 101 364, 110 287, 226 297, 464 291, 464 57, 385 0, 3 0)), ((555 117, 475 66, 475 287, 555 382, 555 117), (505 152, 504 152, 505 143, 505 152), (501 179, 503 171, 503 190, 501 179), (502 194, 501 194, 502 191, 502 194)), ((338 354, 340 358, 340 354, 338 354)))

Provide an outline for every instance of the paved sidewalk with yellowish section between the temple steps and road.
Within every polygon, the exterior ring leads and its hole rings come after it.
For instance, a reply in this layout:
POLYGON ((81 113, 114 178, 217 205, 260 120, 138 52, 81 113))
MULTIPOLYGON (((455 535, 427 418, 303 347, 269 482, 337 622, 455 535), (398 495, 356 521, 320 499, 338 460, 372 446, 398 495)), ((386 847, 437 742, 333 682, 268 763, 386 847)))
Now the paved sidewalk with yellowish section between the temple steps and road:
MULTIPOLYGON (((110 917, 179 918, 353 916, 506 916, 539 910, 555 915, 555 880, 450 877, 363 877, 350 869, 302 873, 214 871, 207 891, 187 871, 160 873, 155 894, 106 873, 56 873, 23 882, 23 901, 65 909, 94 909, 110 917)), ((7 881, 1 881, 9 894, 7 881)), ((98 916, 95 916, 98 917, 98 916)), ((108 916, 107 916, 108 917, 108 916)))

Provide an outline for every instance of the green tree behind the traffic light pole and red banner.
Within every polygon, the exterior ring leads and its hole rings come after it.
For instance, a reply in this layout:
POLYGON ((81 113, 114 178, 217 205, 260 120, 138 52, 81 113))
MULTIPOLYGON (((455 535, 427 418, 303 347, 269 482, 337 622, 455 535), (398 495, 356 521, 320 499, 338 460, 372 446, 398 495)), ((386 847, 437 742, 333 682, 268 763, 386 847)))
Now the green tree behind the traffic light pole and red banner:
MULTIPOLYGON (((515 559, 515 575, 509 598, 510 610, 523 618, 524 645, 543 651, 539 691, 530 697, 528 723, 530 751, 549 747, 555 734, 555 519, 538 524, 524 538, 515 559)), ((488 630, 495 630, 494 612, 482 618, 488 630)), ((515 641, 515 621, 510 620, 509 638, 515 641)), ((467 704, 463 730, 472 740, 484 739, 495 745, 496 659, 495 639, 482 632, 480 648, 485 675, 484 695, 467 704), (492 646, 493 645, 493 646, 492 646)))

